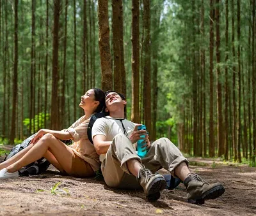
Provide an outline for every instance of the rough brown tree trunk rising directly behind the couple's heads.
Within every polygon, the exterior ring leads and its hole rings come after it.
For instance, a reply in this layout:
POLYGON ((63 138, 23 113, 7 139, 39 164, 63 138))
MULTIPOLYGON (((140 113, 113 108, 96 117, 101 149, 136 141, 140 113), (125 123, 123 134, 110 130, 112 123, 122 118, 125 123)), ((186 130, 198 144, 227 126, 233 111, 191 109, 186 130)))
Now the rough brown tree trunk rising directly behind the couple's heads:
POLYGON ((101 87, 113 89, 111 54, 109 47, 108 0, 98 1, 99 51, 101 66, 101 87))

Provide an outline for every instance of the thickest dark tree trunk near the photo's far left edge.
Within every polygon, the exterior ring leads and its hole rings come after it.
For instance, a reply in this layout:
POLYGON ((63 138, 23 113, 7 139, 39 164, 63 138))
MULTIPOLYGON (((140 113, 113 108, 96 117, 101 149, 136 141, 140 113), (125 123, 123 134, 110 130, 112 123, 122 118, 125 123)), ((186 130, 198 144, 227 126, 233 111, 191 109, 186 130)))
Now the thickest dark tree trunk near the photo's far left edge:
POLYGON ((15 120, 18 92, 18 0, 14 2, 14 62, 13 62, 13 101, 12 101, 12 127, 10 143, 14 144, 15 120))

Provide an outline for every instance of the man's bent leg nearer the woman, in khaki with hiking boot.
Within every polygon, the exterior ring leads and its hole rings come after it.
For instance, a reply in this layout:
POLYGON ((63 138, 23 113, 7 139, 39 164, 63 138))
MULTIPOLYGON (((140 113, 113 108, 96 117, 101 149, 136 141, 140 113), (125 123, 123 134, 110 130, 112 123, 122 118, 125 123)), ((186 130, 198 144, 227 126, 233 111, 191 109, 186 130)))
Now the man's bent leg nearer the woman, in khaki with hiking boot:
POLYGON ((118 188, 143 187, 149 200, 156 200, 166 185, 162 175, 153 175, 141 164, 140 157, 124 134, 117 134, 102 162, 102 174, 107 185, 118 188), (136 177, 140 184, 136 181, 136 177))

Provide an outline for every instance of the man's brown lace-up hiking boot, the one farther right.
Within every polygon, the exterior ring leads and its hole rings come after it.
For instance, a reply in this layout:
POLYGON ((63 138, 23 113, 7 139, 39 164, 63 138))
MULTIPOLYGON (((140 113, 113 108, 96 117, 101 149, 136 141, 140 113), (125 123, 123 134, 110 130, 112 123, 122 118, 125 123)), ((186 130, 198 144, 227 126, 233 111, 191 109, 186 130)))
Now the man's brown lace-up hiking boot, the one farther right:
POLYGON ((188 175, 184 185, 187 188, 188 202, 194 204, 202 205, 206 199, 216 199, 225 192, 221 183, 209 184, 195 173, 188 175))

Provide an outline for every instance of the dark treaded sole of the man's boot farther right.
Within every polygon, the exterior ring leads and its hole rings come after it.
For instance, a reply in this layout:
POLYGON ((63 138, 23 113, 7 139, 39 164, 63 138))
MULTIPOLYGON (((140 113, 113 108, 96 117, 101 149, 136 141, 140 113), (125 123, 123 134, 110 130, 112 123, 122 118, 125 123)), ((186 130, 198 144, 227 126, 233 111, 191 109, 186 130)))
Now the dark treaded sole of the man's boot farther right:
POLYGON ((196 205, 203 205, 204 201, 207 199, 216 199, 219 198, 222 194, 224 194, 225 188, 223 186, 216 186, 211 190, 205 192, 202 195, 202 198, 199 199, 188 199, 188 203, 196 204, 196 205))

